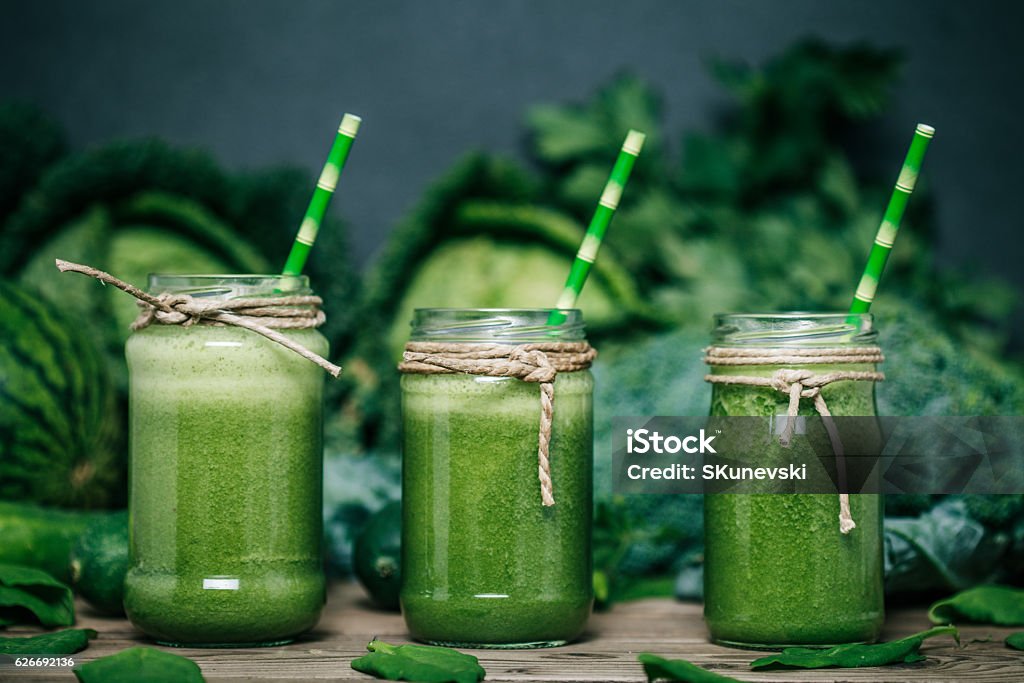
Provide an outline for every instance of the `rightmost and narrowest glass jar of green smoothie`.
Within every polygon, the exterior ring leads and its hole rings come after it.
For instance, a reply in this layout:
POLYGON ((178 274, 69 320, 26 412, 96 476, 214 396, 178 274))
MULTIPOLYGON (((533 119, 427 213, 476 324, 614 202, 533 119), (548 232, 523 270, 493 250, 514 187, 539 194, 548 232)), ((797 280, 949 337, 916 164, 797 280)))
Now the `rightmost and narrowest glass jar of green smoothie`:
MULTIPOLYGON (((715 346, 786 350, 877 347, 867 313, 720 314, 715 346)), ((781 366, 713 367, 714 375, 770 377, 781 366)), ((786 365, 815 373, 874 370, 870 364, 786 365)), ((787 414, 774 388, 713 384, 712 416, 787 414)), ((873 416, 874 382, 836 381, 821 388, 835 416, 873 416)), ((813 401, 801 416, 819 419, 813 401)), ((764 455, 780 450, 777 440, 764 455)), ((781 455, 781 454, 779 454, 781 455)), ((856 528, 839 528, 839 496, 705 496, 705 620, 712 640, 740 647, 826 646, 878 638, 883 607, 883 500, 851 495, 856 528)))

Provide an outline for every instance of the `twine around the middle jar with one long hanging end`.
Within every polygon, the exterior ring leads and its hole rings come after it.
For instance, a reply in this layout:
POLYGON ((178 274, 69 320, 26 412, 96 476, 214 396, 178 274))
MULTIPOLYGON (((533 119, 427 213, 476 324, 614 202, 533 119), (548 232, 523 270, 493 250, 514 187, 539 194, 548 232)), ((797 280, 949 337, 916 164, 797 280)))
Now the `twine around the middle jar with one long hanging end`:
POLYGON ((554 417, 555 379, 558 373, 590 368, 597 351, 587 342, 536 344, 409 342, 398 370, 419 375, 465 373, 487 377, 514 377, 541 387, 541 420, 537 436, 537 470, 541 503, 555 504, 551 480, 551 424, 554 417))

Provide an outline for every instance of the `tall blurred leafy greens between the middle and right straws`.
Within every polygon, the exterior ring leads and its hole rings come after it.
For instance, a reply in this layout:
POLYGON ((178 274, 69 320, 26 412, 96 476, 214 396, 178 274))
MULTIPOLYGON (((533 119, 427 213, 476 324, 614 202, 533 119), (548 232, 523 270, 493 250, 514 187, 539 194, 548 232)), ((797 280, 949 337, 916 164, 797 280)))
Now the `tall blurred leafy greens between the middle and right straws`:
MULTIPOLYGON (((681 325, 701 327, 711 312, 736 306, 840 309, 891 189, 890 179, 856 168, 843 131, 885 111, 902 62, 898 50, 820 40, 796 42, 762 65, 720 60, 713 75, 735 104, 712 132, 684 133, 682 154, 657 143, 677 136, 664 130, 659 93, 629 75, 587 101, 536 106, 527 127, 543 201, 586 221, 606 175, 600 160, 621 139, 615 131, 632 122, 648 133, 648 146, 635 170, 636 191, 624 197, 605 245, 645 300, 681 325), (715 269, 705 267, 710 262, 715 269)), ((894 253, 887 296, 938 313, 937 326, 954 341, 997 356, 1014 291, 936 268, 933 212, 927 187, 920 189, 907 216, 912 229, 901 234, 910 242, 894 253)), ((879 304, 891 309, 889 300, 879 304)), ((984 399, 999 391, 976 393, 984 399)))

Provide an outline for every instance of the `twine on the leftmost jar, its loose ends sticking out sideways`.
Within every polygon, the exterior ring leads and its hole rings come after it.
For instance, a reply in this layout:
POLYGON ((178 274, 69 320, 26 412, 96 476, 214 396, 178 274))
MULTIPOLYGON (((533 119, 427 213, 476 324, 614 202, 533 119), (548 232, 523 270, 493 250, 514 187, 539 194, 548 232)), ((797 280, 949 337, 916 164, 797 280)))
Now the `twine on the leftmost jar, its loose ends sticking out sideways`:
POLYGON ((272 342, 294 351, 303 358, 315 362, 333 377, 341 374, 341 368, 327 358, 313 353, 298 342, 289 339, 276 329, 307 330, 318 328, 326 319, 319 305, 324 302, 317 296, 284 295, 280 297, 239 297, 198 299, 187 294, 160 294, 154 296, 134 285, 118 280, 89 265, 56 260, 61 272, 71 270, 95 278, 104 285, 113 285, 138 299, 140 311, 131 324, 132 330, 142 330, 151 325, 224 325, 243 328, 266 337, 272 342), (276 328, 276 329, 274 329, 276 328))

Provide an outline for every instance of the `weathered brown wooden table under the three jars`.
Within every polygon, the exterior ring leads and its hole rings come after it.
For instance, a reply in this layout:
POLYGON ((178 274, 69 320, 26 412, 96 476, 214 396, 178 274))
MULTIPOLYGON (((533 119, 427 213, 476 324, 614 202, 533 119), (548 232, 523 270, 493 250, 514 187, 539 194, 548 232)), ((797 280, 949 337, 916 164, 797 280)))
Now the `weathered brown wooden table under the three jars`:
MULTIPOLYGON (((95 629, 99 638, 76 660, 113 654, 125 647, 144 645, 146 639, 125 620, 97 616, 79 604, 78 626, 95 629)), ((894 610, 885 639, 899 638, 928 627, 923 609, 894 610)), ((29 629, 12 629, 28 633, 29 629)), ((751 672, 753 652, 711 645, 700 606, 669 599, 649 599, 615 605, 595 614, 590 630, 577 643, 546 650, 473 650, 487 671, 487 681, 635 681, 642 682, 638 652, 684 657, 743 681, 928 681, 930 683, 1024 682, 1024 652, 1002 644, 1011 629, 964 627, 966 647, 957 649, 948 637, 925 642, 927 661, 872 669, 814 672, 751 672), (990 640, 988 640, 990 638, 990 640), (984 642, 974 642, 981 639, 984 642)), ((14 635, 12 633, 11 635, 14 635)), ((300 642, 266 649, 172 649, 203 669, 209 683, 260 681, 372 681, 349 667, 373 636, 392 643, 409 642, 401 617, 374 609, 361 589, 336 586, 319 626, 300 642)), ((69 670, 0 671, 0 681, 74 681, 69 670)))

